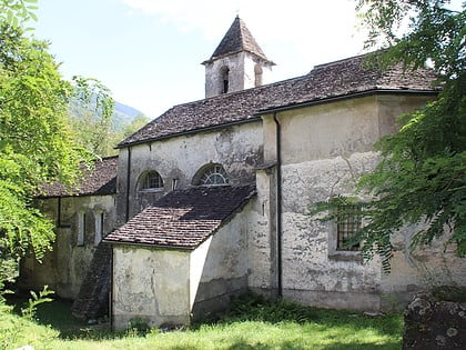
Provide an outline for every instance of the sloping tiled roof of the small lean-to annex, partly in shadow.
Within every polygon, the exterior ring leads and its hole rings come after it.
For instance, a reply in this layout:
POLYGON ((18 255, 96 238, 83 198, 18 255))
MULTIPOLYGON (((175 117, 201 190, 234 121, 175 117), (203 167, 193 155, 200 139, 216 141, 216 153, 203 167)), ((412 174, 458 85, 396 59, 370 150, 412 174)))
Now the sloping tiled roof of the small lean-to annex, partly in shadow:
POLYGON ((195 249, 253 196, 253 186, 175 190, 108 234, 104 242, 195 249))

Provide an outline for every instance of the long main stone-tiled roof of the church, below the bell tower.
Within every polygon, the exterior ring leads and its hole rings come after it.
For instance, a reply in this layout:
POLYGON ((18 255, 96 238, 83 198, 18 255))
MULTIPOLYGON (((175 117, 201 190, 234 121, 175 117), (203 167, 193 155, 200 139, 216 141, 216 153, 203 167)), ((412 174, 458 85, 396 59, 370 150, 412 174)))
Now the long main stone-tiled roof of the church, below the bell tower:
POLYGON ((364 92, 433 92, 430 70, 404 72, 399 66, 367 68, 366 56, 315 67, 308 74, 254 89, 175 106, 119 143, 125 147, 236 122, 259 120, 259 112, 314 103, 364 92))

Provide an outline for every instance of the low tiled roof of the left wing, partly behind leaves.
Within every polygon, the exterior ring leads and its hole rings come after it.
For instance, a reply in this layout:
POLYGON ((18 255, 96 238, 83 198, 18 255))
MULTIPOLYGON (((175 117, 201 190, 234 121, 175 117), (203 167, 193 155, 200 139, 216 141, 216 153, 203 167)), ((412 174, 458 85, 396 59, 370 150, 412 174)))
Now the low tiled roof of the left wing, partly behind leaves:
POLYGON ((70 196, 104 196, 116 193, 118 156, 102 158, 91 170, 83 170, 83 177, 74 189, 67 189, 55 182, 41 188, 39 198, 70 196))

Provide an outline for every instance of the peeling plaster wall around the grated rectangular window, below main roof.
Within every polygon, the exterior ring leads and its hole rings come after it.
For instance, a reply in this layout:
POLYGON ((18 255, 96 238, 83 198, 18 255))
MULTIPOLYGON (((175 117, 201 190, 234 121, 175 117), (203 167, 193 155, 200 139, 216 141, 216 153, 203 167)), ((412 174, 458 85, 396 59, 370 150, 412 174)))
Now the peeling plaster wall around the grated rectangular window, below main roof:
MULTIPOLYGON (((282 138, 285 297, 320 307, 374 310, 379 309, 381 297, 385 293, 406 292, 413 289, 413 284, 422 283, 423 273, 419 274, 403 250, 396 253, 389 276, 382 273, 377 258, 363 264, 354 253, 334 254, 328 249, 332 224, 320 223, 306 213, 317 201, 335 194, 353 196, 355 179, 378 162, 373 143, 396 130, 394 121, 397 114, 425 101, 425 97, 373 96, 277 113, 282 138)), ((277 159, 276 126, 272 117, 263 118, 265 163, 277 159)), ((266 182, 265 172, 257 174, 257 181, 266 182)), ((260 199, 266 197, 266 186, 257 186, 257 190, 260 199)), ((273 198, 273 191, 269 189, 269 192, 273 198)), ((273 222, 269 227, 270 234, 276 234, 273 222)), ((264 231, 254 232, 252 246, 265 254, 266 248, 261 247, 265 241, 262 234, 264 231)), ((435 256, 430 251, 418 261, 432 261, 442 267, 435 256)), ((411 259, 413 257, 411 254, 411 259)), ((259 260, 251 259, 256 264, 251 267, 252 271, 264 269, 259 260)), ((457 264, 453 270, 456 276, 462 276, 457 264)), ((253 286, 264 283, 259 276, 253 273, 250 278, 253 286)))

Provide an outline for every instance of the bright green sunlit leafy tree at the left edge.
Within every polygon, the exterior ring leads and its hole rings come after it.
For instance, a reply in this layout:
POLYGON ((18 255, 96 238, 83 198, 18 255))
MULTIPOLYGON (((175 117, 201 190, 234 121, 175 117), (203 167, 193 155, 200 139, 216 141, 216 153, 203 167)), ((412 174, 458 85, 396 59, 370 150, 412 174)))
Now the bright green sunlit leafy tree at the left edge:
POLYGON ((34 2, 0 0, 1 280, 11 276, 4 267, 26 252, 41 259, 51 248, 53 224, 31 204, 40 186, 54 181, 72 186, 82 163, 93 158, 73 140, 70 99, 95 97, 95 109, 104 118, 113 106, 108 90, 95 93, 95 81, 65 81, 48 43, 24 36, 21 26, 34 18, 34 2))

